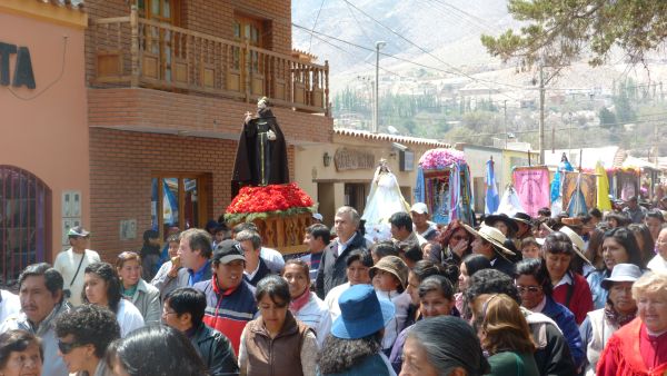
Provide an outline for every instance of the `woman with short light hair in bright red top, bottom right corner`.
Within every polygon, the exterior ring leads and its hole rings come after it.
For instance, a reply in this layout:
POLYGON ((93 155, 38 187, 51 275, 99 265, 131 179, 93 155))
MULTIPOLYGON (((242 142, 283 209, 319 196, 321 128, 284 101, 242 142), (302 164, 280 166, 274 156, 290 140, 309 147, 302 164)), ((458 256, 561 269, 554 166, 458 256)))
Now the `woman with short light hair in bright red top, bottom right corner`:
POLYGON ((667 373, 667 273, 647 273, 633 285, 638 315, 607 343, 598 376, 667 373))

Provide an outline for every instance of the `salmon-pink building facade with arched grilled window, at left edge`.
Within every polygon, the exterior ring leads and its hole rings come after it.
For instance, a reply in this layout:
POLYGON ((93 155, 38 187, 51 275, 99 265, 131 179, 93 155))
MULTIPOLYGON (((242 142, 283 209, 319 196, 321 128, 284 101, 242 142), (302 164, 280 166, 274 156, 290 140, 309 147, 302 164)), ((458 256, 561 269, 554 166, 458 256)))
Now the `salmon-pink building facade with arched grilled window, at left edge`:
POLYGON ((1 285, 91 217, 86 26, 78 7, 0 1, 1 285))

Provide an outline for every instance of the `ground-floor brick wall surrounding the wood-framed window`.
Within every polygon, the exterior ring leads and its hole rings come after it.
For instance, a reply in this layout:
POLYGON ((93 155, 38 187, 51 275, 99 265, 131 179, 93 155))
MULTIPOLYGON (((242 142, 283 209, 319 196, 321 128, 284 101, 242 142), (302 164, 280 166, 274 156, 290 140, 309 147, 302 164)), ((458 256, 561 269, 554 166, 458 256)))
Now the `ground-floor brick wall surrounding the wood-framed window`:
MULTIPOLYGON (((207 217, 217 219, 231 201, 237 141, 112 129, 90 129, 91 248, 106 260, 139 250, 151 225, 151 174, 206 174, 207 217), (137 219, 137 239, 120 240, 120 221, 137 219)), ((293 179, 293 147, 288 149, 293 179)), ((203 226, 203 224, 201 225, 203 226)))

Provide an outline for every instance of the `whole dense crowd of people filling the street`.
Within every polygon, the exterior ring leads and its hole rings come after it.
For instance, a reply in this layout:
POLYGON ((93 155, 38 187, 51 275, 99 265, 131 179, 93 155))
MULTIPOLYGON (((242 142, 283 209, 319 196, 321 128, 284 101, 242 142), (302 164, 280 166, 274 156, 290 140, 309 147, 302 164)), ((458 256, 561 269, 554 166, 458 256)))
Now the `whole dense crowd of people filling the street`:
POLYGON ((0 374, 663 375, 667 199, 429 221, 369 239, 339 208, 283 257, 258 228, 178 229, 113 263, 70 229, 0 299, 0 374))

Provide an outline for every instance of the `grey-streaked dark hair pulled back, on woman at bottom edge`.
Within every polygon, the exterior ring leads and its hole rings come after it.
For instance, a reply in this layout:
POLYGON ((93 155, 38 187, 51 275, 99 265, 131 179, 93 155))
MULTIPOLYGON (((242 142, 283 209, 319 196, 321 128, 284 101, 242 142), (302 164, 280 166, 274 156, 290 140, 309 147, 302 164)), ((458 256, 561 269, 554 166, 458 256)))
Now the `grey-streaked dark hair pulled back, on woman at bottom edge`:
POLYGON ((489 373, 477 334, 467 321, 454 316, 438 316, 417 321, 408 333, 426 352, 438 375, 449 375, 461 367, 469 376, 489 373))

